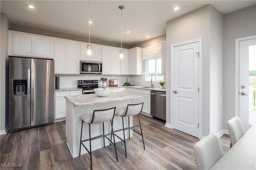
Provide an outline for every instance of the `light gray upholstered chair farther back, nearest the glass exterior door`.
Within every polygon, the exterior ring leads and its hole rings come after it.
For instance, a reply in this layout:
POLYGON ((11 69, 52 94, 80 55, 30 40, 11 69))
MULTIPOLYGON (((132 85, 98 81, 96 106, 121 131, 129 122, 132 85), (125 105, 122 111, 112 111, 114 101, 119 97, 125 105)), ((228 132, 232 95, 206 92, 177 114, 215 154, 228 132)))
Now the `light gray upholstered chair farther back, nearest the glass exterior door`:
POLYGON ((228 121, 228 132, 230 136, 230 148, 244 135, 244 127, 239 117, 233 117, 228 121))

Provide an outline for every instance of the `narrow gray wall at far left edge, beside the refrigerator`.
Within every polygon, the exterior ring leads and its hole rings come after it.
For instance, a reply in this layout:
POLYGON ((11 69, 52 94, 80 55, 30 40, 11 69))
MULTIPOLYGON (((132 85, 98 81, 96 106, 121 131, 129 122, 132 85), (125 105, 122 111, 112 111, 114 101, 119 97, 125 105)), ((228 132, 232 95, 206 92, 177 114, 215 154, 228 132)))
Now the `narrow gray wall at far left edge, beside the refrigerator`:
POLYGON ((0 131, 8 125, 8 29, 10 22, 6 14, 1 13, 1 53, 0 53, 0 131), (7 71, 6 71, 7 69, 7 71), (6 75, 7 74, 7 75, 6 75), (7 100, 7 101, 6 101, 7 100))

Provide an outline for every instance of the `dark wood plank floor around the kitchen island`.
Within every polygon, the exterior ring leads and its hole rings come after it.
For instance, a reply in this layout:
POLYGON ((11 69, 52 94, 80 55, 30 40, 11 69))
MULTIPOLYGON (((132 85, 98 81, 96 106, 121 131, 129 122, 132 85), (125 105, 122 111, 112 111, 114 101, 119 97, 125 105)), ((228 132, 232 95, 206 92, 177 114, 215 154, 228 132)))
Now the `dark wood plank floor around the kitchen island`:
MULTIPOLYGON (((141 115, 141 121, 146 150, 141 136, 134 133, 134 137, 126 140, 127 158, 124 144, 118 142, 119 161, 116 162, 114 146, 107 146, 93 152, 93 169, 196 169, 193 147, 197 138, 166 128, 162 121, 145 115, 141 115)), ((134 117, 134 124, 137 122, 134 117)), ((66 145, 65 121, 1 135, 0 138, 2 170, 14 168, 13 163, 22 164, 18 169, 27 170, 90 169, 89 154, 72 158, 66 145), (6 166, 11 164, 11 168, 3 167, 4 163, 6 166)), ((223 135, 220 140, 225 153, 230 145, 229 136, 223 135)))

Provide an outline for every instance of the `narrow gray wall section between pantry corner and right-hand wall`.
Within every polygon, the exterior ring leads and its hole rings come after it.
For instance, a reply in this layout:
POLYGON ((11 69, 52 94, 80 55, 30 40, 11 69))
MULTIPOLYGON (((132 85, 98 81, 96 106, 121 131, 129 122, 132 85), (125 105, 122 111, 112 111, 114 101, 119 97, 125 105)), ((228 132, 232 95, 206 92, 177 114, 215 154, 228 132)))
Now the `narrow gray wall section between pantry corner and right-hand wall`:
POLYGON ((223 129, 223 21, 224 16, 210 8, 210 133, 223 129))

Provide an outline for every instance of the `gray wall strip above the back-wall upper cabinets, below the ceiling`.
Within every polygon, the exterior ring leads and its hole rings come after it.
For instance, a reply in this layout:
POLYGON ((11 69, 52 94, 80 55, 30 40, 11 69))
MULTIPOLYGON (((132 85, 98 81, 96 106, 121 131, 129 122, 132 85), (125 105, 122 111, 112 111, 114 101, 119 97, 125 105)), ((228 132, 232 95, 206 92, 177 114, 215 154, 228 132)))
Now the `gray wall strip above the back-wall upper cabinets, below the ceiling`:
MULTIPOLYGON (((50 36, 50 37, 57 37, 57 38, 63 38, 63 39, 70 39, 70 40, 74 40, 74 41, 82 41, 82 42, 89 41, 88 37, 79 37, 76 35, 59 33, 59 32, 54 32, 54 31, 47 31, 44 29, 26 27, 26 26, 16 25, 16 24, 11 24, 10 30, 21 31, 21 32, 26 32, 26 33, 34 33, 34 34, 39 34, 39 35, 46 35, 46 36, 50 36)), ((121 47, 120 43, 112 43, 112 42, 101 41, 101 40, 97 40, 97 39, 90 39, 90 43, 100 44, 100 45, 108 45, 108 46, 112 46, 112 47, 121 47)), ((123 45, 123 48, 130 49, 130 46, 123 45)))

